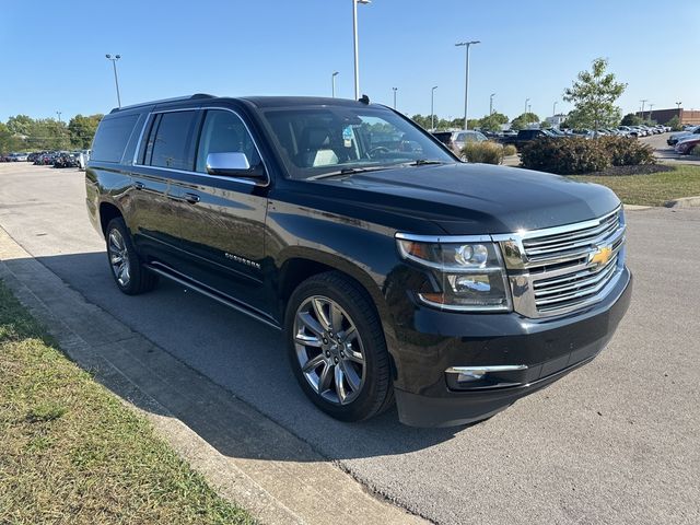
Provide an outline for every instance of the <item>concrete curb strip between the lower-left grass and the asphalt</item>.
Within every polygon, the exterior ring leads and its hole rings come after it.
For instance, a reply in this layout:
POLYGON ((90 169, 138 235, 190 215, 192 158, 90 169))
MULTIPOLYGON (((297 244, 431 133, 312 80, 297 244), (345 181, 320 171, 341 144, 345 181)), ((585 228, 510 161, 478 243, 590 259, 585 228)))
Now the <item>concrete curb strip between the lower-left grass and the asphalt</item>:
POLYGON ((2 228, 0 279, 73 361, 259 521, 428 523, 370 494, 307 443, 89 303, 2 228))

